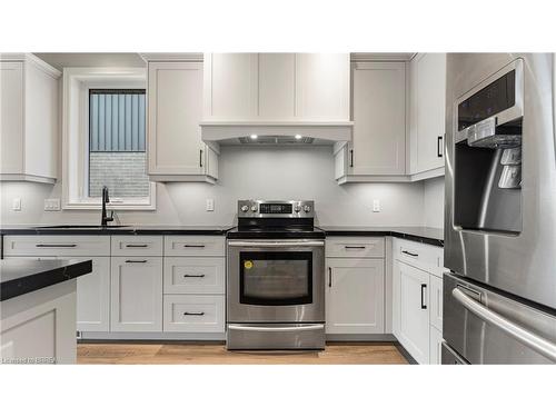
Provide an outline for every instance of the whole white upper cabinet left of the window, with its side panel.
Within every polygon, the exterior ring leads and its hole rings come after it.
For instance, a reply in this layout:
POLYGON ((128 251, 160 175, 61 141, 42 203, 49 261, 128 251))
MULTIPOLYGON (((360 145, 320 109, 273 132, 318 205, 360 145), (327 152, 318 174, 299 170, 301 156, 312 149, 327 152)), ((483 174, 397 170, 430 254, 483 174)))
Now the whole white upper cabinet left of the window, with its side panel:
POLYGON ((59 78, 32 54, 0 54, 0 180, 56 181, 59 78))

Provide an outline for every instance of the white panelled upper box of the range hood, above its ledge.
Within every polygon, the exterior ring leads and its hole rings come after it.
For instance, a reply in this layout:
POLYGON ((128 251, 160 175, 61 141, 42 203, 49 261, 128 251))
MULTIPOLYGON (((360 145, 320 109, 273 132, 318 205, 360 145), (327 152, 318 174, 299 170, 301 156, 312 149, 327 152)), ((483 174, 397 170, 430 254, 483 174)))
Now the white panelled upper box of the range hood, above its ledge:
POLYGON ((206 53, 206 122, 349 121, 348 53, 206 53))

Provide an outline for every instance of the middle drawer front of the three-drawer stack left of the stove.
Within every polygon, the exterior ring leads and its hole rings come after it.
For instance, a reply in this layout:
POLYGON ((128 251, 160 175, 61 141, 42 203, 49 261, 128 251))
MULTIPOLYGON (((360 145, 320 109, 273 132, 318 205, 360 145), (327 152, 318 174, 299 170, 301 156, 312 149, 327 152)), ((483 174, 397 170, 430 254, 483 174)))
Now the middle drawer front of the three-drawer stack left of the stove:
POLYGON ((225 258, 165 258, 165 294, 225 294, 225 258))

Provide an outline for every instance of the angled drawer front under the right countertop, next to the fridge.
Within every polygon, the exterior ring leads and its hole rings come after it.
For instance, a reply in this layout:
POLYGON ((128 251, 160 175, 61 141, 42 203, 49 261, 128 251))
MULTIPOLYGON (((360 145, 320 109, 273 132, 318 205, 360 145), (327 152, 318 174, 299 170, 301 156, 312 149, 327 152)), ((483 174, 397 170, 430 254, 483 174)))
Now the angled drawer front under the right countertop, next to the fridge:
POLYGON ((394 239, 394 258, 436 276, 444 271, 444 248, 411 240, 394 239))

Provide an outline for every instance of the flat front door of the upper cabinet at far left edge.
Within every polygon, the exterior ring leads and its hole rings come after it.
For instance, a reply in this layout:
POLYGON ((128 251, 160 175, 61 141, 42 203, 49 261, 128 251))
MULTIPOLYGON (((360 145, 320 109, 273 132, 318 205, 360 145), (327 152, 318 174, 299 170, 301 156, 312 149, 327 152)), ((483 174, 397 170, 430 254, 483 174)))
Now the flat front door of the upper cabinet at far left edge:
POLYGON ((23 63, 0 62, 0 173, 23 173, 23 63))

